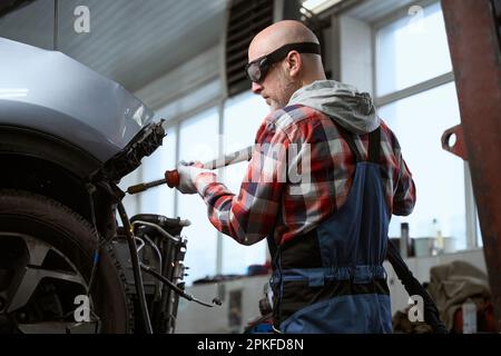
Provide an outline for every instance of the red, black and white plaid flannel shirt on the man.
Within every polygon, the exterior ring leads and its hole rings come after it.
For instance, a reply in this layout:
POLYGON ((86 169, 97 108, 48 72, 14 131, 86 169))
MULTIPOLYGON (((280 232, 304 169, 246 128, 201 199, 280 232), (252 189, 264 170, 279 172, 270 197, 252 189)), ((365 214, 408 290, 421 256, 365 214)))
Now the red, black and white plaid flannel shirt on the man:
MULTIPOLYGON (((197 178, 209 220, 219 231, 244 245, 274 233, 282 244, 317 227, 343 206, 355 160, 331 118, 308 107, 289 106, 265 118, 255 142, 238 195, 213 174, 197 178)), ((369 135, 355 136, 355 144, 366 159, 369 135)), ((415 186, 396 137, 382 120, 381 148, 387 207, 394 215, 409 215, 415 186)))

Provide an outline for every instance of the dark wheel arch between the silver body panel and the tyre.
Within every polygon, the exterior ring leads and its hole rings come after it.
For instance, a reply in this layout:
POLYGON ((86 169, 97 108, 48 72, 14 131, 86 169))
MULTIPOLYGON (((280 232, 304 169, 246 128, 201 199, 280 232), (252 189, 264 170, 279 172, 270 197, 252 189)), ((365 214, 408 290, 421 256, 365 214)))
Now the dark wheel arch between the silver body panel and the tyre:
MULTIPOLYGON (((52 198, 92 221, 88 184, 102 164, 80 148, 28 128, 0 126, 0 188, 22 189, 52 198)), ((92 195, 102 236, 115 233, 112 202, 99 189, 92 195)))

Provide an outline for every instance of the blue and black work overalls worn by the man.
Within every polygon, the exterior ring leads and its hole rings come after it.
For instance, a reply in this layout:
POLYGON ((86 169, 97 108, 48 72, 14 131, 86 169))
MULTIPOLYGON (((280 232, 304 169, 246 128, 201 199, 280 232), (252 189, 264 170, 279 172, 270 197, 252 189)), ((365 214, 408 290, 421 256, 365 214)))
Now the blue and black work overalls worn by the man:
POLYGON ((283 333, 391 333, 383 261, 390 209, 380 164, 381 131, 362 160, 353 134, 340 128, 356 160, 346 202, 315 229, 273 246, 274 327, 283 333))

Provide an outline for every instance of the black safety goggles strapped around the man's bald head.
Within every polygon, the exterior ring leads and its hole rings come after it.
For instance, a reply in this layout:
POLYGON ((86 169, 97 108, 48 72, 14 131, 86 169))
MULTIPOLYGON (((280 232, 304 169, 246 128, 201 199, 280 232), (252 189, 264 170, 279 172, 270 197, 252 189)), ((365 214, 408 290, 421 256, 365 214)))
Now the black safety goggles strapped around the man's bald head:
POLYGON ((245 66, 245 73, 250 81, 262 82, 268 73, 272 65, 287 57, 291 51, 298 51, 299 53, 321 53, 321 47, 314 42, 288 43, 274 50, 273 52, 259 57, 245 66))

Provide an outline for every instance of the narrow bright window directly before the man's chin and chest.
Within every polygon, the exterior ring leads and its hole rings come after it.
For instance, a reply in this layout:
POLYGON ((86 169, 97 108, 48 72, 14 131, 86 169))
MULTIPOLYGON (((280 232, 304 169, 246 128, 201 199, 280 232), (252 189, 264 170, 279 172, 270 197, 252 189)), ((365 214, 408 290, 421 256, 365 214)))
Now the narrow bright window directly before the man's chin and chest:
MULTIPOLYGON (((224 154, 230 154, 254 144, 259 125, 269 112, 262 97, 244 92, 225 102, 224 154)), ((248 162, 239 162, 222 169, 225 185, 238 194, 248 162)), ((223 236, 223 274, 244 274, 249 265, 262 265, 266 260, 266 239, 253 246, 243 246, 223 236)))

